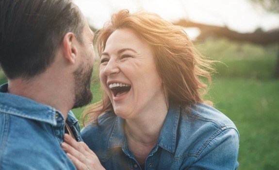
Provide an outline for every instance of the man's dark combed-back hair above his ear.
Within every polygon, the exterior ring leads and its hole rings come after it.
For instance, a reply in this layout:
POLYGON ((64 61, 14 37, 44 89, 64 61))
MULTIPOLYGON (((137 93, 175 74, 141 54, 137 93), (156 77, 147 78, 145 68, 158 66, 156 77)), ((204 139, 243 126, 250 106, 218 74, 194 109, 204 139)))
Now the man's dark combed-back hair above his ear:
POLYGON ((52 64, 67 32, 82 43, 83 28, 71 0, 0 0, 0 66, 9 79, 32 78, 52 64))

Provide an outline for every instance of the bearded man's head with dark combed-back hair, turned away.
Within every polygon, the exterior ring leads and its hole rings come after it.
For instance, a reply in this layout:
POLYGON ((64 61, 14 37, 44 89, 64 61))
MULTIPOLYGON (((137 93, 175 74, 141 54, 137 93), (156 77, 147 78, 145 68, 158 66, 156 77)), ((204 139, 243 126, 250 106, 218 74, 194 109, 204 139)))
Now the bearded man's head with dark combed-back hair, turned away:
POLYGON ((72 0, 0 0, 0 66, 9 81, 62 75, 73 107, 92 99, 93 35, 72 0))

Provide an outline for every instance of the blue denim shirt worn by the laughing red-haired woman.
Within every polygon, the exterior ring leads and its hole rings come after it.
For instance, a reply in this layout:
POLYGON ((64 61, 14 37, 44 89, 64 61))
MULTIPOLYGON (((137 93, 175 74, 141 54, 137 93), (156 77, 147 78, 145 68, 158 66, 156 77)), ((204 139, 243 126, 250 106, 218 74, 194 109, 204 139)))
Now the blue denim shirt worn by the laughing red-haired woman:
MULTIPOLYGON (((107 170, 141 170, 128 147, 125 120, 114 113, 89 124, 82 139, 107 170)), ((239 134, 224 114, 199 103, 186 114, 170 105, 156 146, 145 161, 145 170, 235 170, 239 134)))

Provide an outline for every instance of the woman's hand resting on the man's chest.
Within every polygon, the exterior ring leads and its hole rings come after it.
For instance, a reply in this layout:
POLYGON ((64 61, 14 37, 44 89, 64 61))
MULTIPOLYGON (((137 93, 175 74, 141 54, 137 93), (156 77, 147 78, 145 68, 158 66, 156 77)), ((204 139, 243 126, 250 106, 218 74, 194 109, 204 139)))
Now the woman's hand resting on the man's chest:
POLYGON ((65 134, 64 140, 62 149, 78 170, 105 170, 97 155, 84 142, 77 142, 68 134, 65 134))

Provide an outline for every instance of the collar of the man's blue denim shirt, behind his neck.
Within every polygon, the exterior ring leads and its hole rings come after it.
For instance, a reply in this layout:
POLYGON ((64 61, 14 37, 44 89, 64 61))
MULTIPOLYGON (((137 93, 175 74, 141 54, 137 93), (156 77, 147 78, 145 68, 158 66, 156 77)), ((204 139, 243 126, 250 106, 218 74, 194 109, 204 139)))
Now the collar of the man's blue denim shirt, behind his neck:
MULTIPOLYGON (((62 113, 53 107, 28 98, 7 93, 8 84, 0 86, 0 110, 11 115, 35 119, 56 126, 56 114, 62 113)), ((62 116, 63 118, 63 116, 62 116)))

